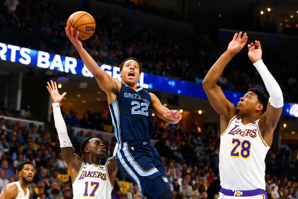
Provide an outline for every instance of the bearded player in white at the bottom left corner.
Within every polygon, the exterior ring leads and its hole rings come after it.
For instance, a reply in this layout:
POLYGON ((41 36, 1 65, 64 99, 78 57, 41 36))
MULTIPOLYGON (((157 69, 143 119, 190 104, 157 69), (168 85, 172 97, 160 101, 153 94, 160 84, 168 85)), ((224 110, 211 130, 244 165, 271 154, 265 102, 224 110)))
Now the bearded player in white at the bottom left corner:
POLYGON ((29 199, 29 185, 33 182, 35 168, 31 161, 25 161, 19 164, 18 175, 20 181, 9 183, 4 187, 0 194, 2 199, 29 199))

